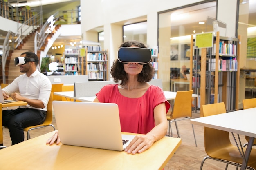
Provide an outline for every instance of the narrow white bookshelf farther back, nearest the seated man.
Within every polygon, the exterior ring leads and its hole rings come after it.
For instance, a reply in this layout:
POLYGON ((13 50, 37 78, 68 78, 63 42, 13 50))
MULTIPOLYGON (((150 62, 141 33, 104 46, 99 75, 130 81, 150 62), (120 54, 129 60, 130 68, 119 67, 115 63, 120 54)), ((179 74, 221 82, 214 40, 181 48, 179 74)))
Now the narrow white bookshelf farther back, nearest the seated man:
POLYGON ((65 75, 78 75, 79 49, 65 50, 65 75))

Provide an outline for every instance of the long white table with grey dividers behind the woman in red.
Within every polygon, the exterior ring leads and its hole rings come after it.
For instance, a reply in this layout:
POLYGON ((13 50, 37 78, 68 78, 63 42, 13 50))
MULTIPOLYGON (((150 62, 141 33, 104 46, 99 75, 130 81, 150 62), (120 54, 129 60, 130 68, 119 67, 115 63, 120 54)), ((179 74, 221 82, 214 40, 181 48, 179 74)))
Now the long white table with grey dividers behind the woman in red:
MULTIPOLYGON (((172 92, 172 91, 164 91, 164 95, 167 100, 174 100, 176 97, 177 92, 172 92)), ((96 96, 88 96, 88 97, 74 97, 74 92, 73 91, 63 91, 63 92, 54 92, 54 95, 66 97, 69 99, 74 99, 74 100, 80 100, 82 102, 93 102, 96 96)), ((196 94, 192 94, 192 97, 198 97, 196 94)))

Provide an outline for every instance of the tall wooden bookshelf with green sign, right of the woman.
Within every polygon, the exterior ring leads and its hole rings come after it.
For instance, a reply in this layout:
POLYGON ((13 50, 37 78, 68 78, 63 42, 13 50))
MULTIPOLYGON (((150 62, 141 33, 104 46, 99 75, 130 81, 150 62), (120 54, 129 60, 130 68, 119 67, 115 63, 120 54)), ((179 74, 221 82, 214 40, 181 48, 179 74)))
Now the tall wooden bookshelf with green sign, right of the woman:
POLYGON ((239 39, 221 37, 216 32, 211 47, 194 48, 195 38, 191 35, 190 89, 198 94, 201 116, 204 104, 224 102, 227 112, 238 110, 239 39))

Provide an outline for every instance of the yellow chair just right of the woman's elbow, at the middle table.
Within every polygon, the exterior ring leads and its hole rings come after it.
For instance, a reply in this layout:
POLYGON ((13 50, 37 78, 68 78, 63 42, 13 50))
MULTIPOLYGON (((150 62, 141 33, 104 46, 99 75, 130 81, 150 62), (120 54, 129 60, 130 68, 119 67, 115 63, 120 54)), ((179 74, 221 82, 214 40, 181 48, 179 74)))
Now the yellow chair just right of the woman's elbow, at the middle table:
MULTIPOLYGON (((166 115, 166 118, 169 121, 169 134, 168 134, 169 137, 170 137, 170 131, 171 131, 171 137, 173 137, 171 123, 175 122, 177 135, 178 135, 178 137, 180 137, 180 133, 179 133, 178 126, 177 126, 177 121, 191 119, 191 117, 192 117, 192 93, 193 93, 193 90, 177 91, 174 106, 173 106, 173 111, 171 113, 167 113, 167 115, 166 115)), ((192 125, 193 134, 194 134, 194 138, 195 138, 194 127, 193 127, 193 124, 191 124, 191 125, 192 125)), ((195 139, 195 146, 197 146, 196 139, 195 139)))

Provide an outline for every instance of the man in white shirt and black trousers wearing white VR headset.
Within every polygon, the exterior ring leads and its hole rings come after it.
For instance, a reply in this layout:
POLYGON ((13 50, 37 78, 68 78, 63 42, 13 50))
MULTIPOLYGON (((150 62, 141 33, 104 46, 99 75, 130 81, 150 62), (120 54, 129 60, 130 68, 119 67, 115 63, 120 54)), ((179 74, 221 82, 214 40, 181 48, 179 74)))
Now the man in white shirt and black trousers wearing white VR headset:
POLYGON ((9 129, 12 145, 24 141, 23 128, 45 121, 52 89, 50 80, 36 69, 39 60, 35 53, 22 53, 14 61, 15 65, 20 67, 20 72, 25 74, 2 89, 4 99, 11 97, 14 100, 22 100, 27 102, 27 106, 2 111, 3 126, 9 129))

